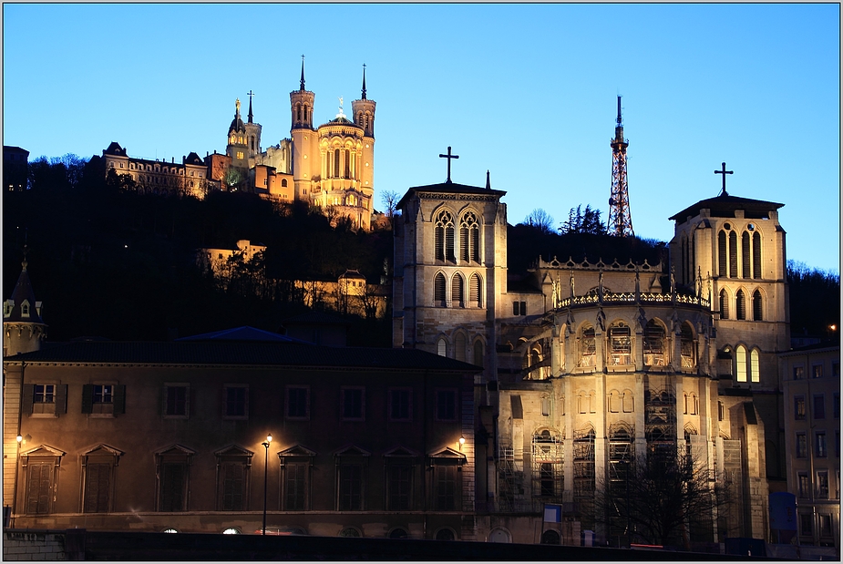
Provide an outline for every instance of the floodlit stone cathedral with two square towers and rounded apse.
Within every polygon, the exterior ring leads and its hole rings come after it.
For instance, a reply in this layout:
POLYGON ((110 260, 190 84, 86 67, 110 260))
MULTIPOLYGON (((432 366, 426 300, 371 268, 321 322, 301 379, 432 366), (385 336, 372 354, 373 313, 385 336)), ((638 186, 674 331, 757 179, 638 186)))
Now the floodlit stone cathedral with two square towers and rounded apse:
POLYGON ((484 367, 478 510, 509 516, 516 542, 537 528, 548 542, 577 544, 578 529, 617 542, 597 490, 683 447, 734 503, 673 540, 768 538, 767 494, 784 483, 767 478, 786 458, 781 204, 724 192, 673 216, 670 264, 538 260, 510 288, 504 194, 488 179, 411 188, 395 231, 394 344, 484 367), (564 526, 542 524, 549 504, 564 526))

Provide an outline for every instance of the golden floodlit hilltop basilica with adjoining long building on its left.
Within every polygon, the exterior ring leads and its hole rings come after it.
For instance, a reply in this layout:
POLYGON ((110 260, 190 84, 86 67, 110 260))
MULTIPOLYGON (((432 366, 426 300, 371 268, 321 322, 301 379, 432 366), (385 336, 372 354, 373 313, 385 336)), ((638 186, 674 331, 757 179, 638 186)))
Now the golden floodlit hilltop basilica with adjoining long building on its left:
POLYGON ((366 97, 365 66, 360 99, 351 116, 339 99, 336 117, 314 123, 316 95, 304 87, 304 62, 299 89, 290 93, 290 138, 265 150, 262 125, 254 120, 252 91, 245 120, 240 98, 234 102, 224 153, 195 152, 176 159, 136 159, 112 142, 103 150, 106 173, 128 175, 139 190, 180 193, 203 198, 210 190, 245 190, 280 203, 305 202, 332 220, 345 218, 355 229, 372 226, 375 192, 375 100, 366 97))

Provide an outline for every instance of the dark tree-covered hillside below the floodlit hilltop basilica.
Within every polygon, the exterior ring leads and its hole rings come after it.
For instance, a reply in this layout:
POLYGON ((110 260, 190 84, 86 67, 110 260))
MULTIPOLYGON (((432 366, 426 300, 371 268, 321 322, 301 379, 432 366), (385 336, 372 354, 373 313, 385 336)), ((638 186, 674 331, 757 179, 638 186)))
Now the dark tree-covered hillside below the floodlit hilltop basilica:
MULTIPOLYGON (((37 159, 29 187, 3 196, 3 288, 11 294, 26 243, 54 342, 165 340, 247 324, 277 331, 285 317, 306 311, 294 292, 283 292, 289 281, 335 281, 357 269, 376 283, 392 256, 388 231, 334 229, 306 206, 281 208, 254 194, 142 194, 128 177, 106 177, 99 157, 37 159), (241 239, 268 247, 265 292, 252 292, 248 280, 222 291, 197 265, 198 248, 241 239)), ((349 321, 352 344, 389 346, 388 319, 349 321)))

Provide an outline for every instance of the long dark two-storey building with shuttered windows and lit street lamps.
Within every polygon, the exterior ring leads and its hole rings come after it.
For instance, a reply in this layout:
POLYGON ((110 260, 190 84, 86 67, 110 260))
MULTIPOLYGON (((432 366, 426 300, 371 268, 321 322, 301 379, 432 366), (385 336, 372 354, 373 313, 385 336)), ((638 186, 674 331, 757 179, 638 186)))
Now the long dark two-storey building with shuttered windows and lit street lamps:
POLYGON ((270 531, 473 540, 476 371, 248 327, 12 354, 4 505, 13 528, 254 533, 265 502, 270 531))

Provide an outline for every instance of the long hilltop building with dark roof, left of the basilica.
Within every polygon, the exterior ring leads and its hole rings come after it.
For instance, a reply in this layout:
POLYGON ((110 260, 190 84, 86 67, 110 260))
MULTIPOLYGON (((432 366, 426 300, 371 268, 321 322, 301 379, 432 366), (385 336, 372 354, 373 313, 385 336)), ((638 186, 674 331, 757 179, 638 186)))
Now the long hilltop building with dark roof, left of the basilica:
POLYGON ((108 149, 103 149, 105 173, 126 176, 132 180, 136 190, 143 193, 162 196, 193 196, 202 199, 211 190, 219 190, 220 185, 209 175, 209 166, 196 153, 190 153, 177 163, 159 159, 136 159, 129 157, 126 149, 112 141, 108 149))

